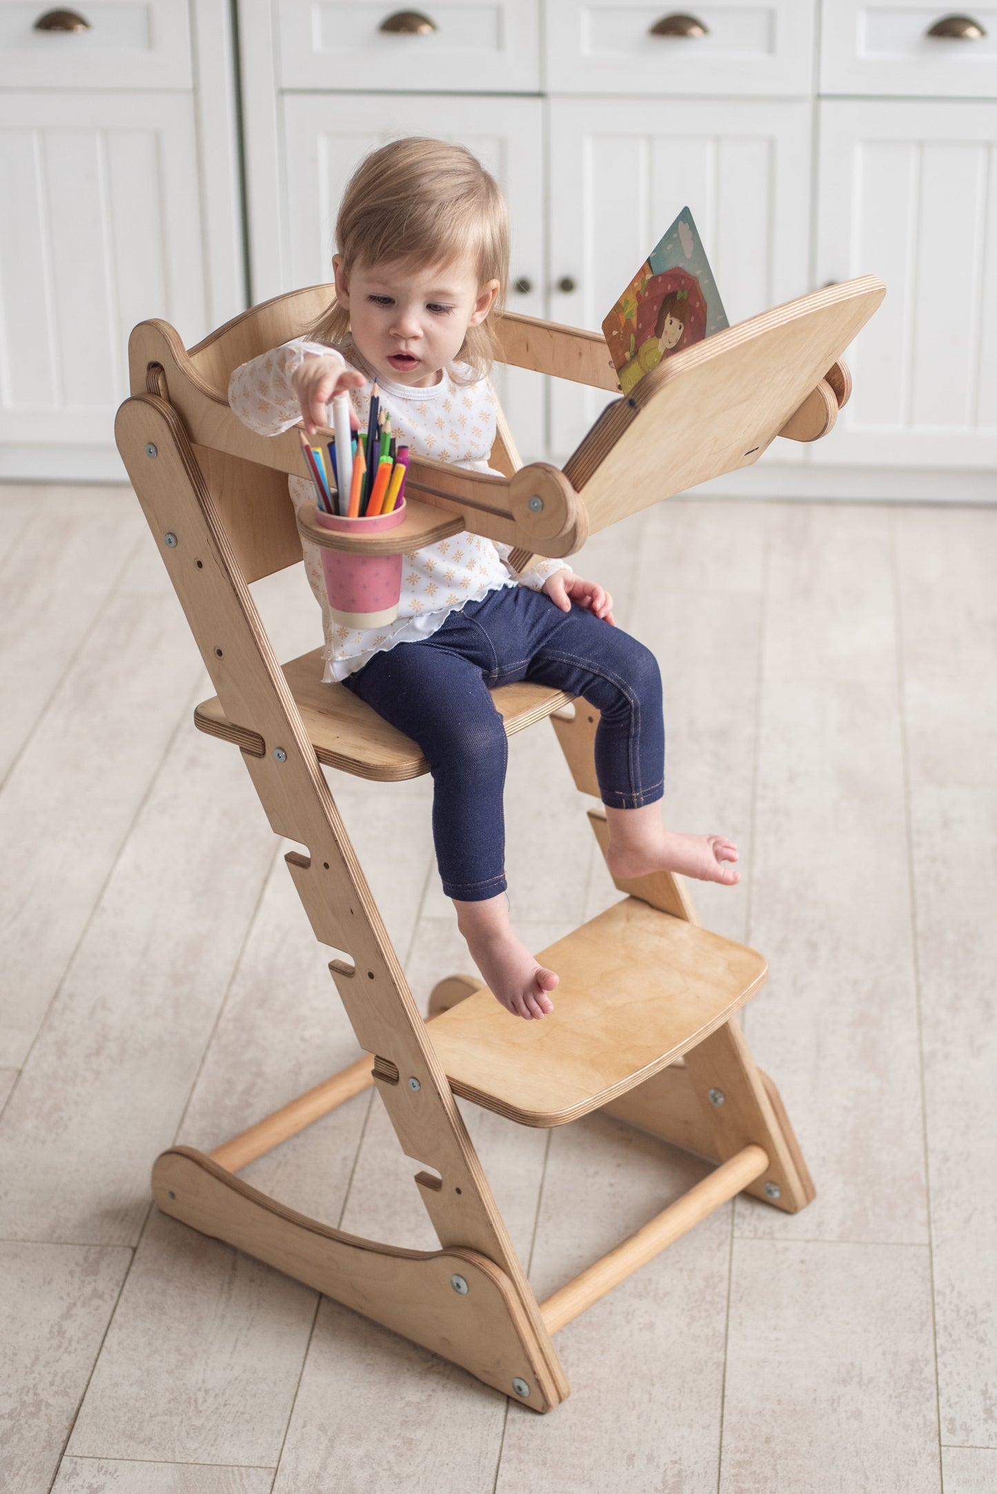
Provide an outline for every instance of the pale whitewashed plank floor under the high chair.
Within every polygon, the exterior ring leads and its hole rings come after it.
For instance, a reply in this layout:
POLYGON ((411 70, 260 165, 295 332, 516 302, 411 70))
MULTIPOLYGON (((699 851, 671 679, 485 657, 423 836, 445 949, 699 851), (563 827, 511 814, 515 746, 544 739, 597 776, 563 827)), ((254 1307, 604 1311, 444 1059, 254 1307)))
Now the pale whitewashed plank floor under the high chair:
MULTIPOLYGON (((742 847, 703 922, 818 1188, 737 1198, 558 1337, 546 1418, 161 1216, 149 1165, 355 1056, 324 953, 124 489, 0 489, 4 1494, 997 1488, 997 509, 673 500, 578 569, 658 654, 667 816, 742 847)), ((316 642, 300 568, 255 589, 316 642)), ((330 774, 416 996, 467 970, 430 784, 330 774)), ((512 743, 542 947, 613 890, 546 725, 512 743)), ((706 1165, 604 1116, 461 1107, 537 1294, 706 1165)), ((372 1095, 248 1170, 433 1247, 372 1095)))

